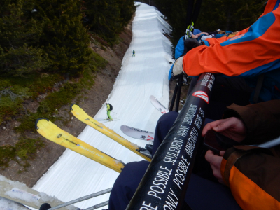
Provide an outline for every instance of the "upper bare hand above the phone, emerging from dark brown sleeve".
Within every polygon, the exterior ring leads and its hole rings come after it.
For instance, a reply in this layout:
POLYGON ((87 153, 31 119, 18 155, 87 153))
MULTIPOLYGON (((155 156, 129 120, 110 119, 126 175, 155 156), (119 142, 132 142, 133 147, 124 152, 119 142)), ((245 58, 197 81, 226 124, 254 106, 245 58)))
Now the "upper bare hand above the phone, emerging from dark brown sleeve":
POLYGON ((246 137, 246 127, 242 120, 239 118, 227 118, 222 120, 216 120, 214 122, 208 123, 204 126, 202 130, 202 137, 205 136, 208 130, 214 130, 220 132, 226 137, 233 139, 237 142, 241 142, 246 137))

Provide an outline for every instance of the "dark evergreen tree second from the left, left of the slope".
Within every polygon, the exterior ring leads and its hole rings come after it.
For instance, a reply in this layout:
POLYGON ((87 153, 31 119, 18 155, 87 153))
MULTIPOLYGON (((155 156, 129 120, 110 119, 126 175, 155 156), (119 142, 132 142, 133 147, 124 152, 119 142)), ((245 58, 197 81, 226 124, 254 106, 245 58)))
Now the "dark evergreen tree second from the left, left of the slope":
POLYGON ((38 20, 43 22, 40 45, 48 55, 48 71, 82 73, 92 61, 90 36, 83 27, 78 0, 37 0, 38 20))

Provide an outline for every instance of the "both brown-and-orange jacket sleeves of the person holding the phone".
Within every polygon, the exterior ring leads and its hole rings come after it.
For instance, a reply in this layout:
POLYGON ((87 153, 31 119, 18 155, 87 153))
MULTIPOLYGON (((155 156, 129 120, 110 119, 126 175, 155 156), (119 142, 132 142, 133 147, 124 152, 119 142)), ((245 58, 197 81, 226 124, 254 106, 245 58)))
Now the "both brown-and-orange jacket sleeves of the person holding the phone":
MULTIPOLYGON (((258 144, 280 135, 280 100, 238 106, 225 118, 238 117, 248 129, 246 144, 258 144)), ((280 209, 280 146, 234 146, 223 155, 221 174, 242 209, 280 209)))

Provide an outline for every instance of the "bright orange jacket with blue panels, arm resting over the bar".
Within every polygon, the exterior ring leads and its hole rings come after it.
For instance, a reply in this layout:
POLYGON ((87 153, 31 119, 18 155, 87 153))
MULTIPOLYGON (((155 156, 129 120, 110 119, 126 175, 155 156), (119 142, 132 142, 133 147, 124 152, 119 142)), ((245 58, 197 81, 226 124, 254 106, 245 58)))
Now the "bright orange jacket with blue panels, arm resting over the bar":
POLYGON ((188 76, 210 72, 244 77, 255 87, 265 73, 259 102, 280 99, 280 8, 269 0, 260 18, 234 37, 207 38, 204 45, 190 50, 183 59, 188 76))

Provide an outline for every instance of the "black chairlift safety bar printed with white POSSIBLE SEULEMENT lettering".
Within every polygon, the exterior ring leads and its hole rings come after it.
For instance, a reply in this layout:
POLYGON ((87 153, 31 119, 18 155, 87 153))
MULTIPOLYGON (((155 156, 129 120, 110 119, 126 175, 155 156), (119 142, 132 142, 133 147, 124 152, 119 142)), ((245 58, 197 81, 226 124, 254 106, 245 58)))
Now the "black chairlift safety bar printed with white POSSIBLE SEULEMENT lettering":
POLYGON ((181 209, 214 81, 213 73, 200 76, 126 210, 181 209))

